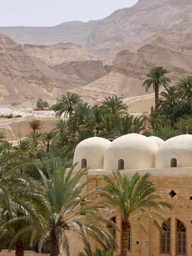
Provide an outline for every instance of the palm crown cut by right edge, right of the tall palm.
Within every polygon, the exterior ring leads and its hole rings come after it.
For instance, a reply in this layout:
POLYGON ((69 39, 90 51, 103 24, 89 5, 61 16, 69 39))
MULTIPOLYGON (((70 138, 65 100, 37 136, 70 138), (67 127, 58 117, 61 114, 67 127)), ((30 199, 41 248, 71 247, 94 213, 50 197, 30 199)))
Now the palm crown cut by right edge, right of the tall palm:
POLYGON ((176 86, 180 98, 190 102, 192 100, 192 76, 181 78, 176 86))

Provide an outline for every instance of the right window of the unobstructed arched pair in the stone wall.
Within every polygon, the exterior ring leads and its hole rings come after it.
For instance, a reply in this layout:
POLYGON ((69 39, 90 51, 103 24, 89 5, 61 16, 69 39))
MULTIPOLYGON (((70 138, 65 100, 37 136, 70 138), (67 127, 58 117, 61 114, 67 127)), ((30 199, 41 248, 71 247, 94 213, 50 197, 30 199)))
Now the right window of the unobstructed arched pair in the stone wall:
POLYGON ((183 223, 177 219, 177 254, 185 255, 186 230, 183 223))

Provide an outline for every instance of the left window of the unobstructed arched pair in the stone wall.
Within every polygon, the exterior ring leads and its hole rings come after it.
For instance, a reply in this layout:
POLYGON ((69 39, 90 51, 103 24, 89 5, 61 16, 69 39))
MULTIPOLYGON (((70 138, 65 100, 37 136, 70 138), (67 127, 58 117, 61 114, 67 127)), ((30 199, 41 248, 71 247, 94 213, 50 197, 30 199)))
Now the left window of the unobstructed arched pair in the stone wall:
POLYGON ((170 220, 168 220, 168 223, 163 223, 162 228, 161 253, 170 254, 170 220))

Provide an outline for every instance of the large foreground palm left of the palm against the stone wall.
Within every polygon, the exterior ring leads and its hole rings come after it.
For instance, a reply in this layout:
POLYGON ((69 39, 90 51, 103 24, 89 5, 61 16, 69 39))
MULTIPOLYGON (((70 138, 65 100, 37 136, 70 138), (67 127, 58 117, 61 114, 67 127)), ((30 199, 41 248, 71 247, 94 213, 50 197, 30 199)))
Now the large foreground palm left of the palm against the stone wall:
POLYGON ((104 225, 108 221, 98 214, 101 207, 87 200, 95 192, 86 194, 87 183, 81 182, 86 170, 74 172, 72 168, 66 171, 62 161, 52 159, 47 163, 46 175, 41 171, 40 174, 46 210, 41 212, 41 222, 34 224, 32 237, 38 239, 40 245, 50 237, 50 256, 58 256, 61 245, 69 255, 68 232, 81 236, 82 229, 85 234, 97 238, 101 245, 107 240, 110 245, 104 225))

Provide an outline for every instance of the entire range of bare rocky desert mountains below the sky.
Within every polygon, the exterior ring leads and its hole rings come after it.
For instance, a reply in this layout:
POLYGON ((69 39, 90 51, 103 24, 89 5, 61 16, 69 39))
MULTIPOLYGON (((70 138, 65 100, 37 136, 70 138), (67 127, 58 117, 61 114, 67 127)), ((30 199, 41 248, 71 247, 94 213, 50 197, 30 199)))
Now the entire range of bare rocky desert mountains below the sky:
POLYGON ((191 13, 192 0, 138 0, 103 20, 0 27, 16 41, 0 36, 0 104, 54 101, 66 90, 91 104, 115 94, 140 100, 149 68, 164 66, 172 83, 191 75, 191 13))

